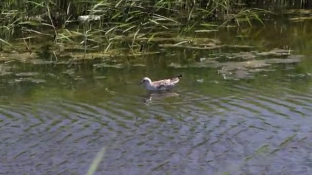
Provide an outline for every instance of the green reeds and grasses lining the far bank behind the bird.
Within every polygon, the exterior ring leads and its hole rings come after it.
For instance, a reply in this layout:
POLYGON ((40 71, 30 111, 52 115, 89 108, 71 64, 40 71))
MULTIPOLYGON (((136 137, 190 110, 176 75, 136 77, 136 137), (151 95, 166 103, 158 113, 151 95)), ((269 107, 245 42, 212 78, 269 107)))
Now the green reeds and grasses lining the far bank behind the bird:
MULTIPOLYGON (((213 49, 218 41, 185 35, 218 32, 245 24, 264 25, 264 14, 275 14, 269 8, 256 8, 270 7, 271 1, 264 5, 263 1, 243 0, 2 2, 0 53, 3 59, 0 60, 5 61, 9 61, 4 58, 7 57, 5 53, 14 53, 15 57, 18 57, 16 53, 30 53, 31 57, 36 57, 33 54, 38 49, 48 51, 50 61, 57 61, 68 53, 75 59, 154 54, 158 52, 144 50, 155 43, 163 48, 213 49), (197 45, 188 45, 193 42, 197 45)), ((275 5, 304 8, 309 4, 282 1, 275 5)))

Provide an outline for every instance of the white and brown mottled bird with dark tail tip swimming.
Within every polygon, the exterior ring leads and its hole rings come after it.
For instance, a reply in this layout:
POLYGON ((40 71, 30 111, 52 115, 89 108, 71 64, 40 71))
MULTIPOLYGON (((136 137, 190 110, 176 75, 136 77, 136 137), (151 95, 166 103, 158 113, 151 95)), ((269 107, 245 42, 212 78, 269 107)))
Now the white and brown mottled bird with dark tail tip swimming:
POLYGON ((148 77, 144 77, 140 84, 143 84, 145 88, 149 91, 170 90, 171 88, 173 88, 175 84, 177 84, 180 81, 180 77, 182 77, 182 75, 175 76, 170 79, 164 79, 153 82, 148 77))

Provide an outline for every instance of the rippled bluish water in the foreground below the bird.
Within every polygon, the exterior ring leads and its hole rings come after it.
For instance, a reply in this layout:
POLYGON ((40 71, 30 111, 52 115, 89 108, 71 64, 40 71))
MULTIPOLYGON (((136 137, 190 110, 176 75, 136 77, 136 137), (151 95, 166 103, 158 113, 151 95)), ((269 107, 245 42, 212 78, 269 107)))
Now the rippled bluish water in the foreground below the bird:
POLYGON ((2 104, 0 173, 84 174, 102 147, 101 173, 305 173, 312 96, 285 87, 2 104))

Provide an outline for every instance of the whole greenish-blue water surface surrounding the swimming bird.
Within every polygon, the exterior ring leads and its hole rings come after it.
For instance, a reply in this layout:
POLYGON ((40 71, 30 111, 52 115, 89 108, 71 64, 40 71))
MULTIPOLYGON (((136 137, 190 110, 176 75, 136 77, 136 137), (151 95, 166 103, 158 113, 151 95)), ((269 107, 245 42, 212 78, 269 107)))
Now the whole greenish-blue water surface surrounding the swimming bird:
POLYGON ((106 147, 96 174, 310 174, 310 29, 311 23, 287 22, 226 29, 210 37, 256 48, 169 48, 129 57, 145 67, 7 63, 12 74, 0 82, 0 173, 85 174, 106 147), (275 48, 304 57, 263 70, 243 64, 238 72, 232 63, 222 65, 225 72, 193 64, 200 58, 206 64, 213 54, 225 63, 280 58, 231 58, 275 48), (60 74, 66 70, 72 74, 60 74), (138 85, 144 76, 181 73, 170 93, 149 94, 138 85), (21 76, 32 79, 20 82, 21 76))

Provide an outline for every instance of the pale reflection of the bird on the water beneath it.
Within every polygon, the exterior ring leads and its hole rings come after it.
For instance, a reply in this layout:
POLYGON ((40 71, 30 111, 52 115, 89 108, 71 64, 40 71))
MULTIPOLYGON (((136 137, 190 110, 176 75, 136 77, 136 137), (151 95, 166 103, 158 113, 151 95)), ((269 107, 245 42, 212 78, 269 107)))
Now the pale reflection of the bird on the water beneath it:
POLYGON ((144 104, 149 105, 152 100, 160 100, 168 97, 179 96, 179 94, 171 92, 171 91, 154 91, 147 92, 144 95, 144 104))

